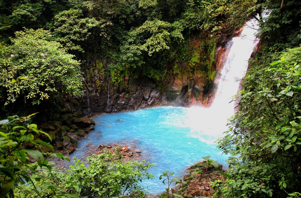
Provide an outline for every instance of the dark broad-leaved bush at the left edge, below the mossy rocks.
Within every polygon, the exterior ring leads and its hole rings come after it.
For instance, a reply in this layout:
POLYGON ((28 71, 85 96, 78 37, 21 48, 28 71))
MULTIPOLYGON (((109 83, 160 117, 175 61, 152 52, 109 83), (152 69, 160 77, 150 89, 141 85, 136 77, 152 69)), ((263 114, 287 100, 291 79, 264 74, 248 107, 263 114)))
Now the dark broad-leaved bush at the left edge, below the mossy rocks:
MULTIPOLYGON (((49 157, 64 157, 43 151, 45 147, 52 149, 52 146, 36 137, 40 134, 50 140, 51 137, 30 123, 33 115, 0 120, 0 197, 14 197, 16 189, 23 189, 22 184, 41 179, 36 171, 40 168, 51 170, 49 157)), ((35 185, 30 191, 37 193, 41 188, 35 185)))

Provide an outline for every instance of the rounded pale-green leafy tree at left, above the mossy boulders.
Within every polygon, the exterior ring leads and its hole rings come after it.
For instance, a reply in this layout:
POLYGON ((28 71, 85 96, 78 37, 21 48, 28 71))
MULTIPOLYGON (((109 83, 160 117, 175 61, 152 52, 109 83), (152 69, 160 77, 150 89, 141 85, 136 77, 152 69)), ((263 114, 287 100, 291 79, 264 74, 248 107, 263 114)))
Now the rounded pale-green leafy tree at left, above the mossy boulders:
POLYGON ((3 46, 0 85, 8 93, 5 105, 19 96, 39 104, 54 94, 82 93, 79 61, 51 39, 50 31, 25 29, 16 32, 12 45, 3 46))

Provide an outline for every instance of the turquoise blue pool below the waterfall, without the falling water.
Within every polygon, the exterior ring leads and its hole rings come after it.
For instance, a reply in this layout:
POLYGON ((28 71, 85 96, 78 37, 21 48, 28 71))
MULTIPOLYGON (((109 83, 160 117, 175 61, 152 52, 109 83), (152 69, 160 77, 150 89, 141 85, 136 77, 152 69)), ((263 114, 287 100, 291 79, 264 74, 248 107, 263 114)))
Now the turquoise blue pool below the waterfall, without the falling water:
POLYGON ((151 193, 161 193, 167 187, 159 180, 162 172, 168 170, 175 172, 174 177, 183 176, 186 174, 185 168, 208 155, 226 165, 227 157, 216 149, 216 137, 195 129, 207 123, 198 119, 198 115, 189 115, 190 110, 182 107, 154 107, 95 116, 95 130, 79 140, 79 147, 70 157, 83 159, 87 155, 88 142, 92 142, 94 148, 100 144, 114 143, 128 145, 129 148, 135 146, 135 149, 142 151, 143 159, 157 163, 149 170, 155 178, 144 181, 142 186, 149 188, 151 193))

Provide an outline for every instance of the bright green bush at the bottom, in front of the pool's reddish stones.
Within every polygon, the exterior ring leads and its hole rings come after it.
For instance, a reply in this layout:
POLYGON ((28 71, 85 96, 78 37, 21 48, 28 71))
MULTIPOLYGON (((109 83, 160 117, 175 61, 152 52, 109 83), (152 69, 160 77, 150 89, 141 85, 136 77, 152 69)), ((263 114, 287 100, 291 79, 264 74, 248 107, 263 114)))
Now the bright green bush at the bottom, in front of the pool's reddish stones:
POLYGON ((27 184, 25 193, 19 191, 19 196, 24 197, 47 197, 55 196, 57 192, 66 192, 79 197, 144 197, 146 190, 140 187, 139 182, 153 178, 154 175, 147 173, 147 169, 154 164, 138 161, 123 161, 123 156, 105 151, 99 155, 88 157, 88 166, 75 159, 75 164, 67 169, 66 173, 57 169, 40 172, 39 177, 43 180, 36 181, 35 185, 47 184, 51 186, 44 192, 29 192, 33 184, 27 184))

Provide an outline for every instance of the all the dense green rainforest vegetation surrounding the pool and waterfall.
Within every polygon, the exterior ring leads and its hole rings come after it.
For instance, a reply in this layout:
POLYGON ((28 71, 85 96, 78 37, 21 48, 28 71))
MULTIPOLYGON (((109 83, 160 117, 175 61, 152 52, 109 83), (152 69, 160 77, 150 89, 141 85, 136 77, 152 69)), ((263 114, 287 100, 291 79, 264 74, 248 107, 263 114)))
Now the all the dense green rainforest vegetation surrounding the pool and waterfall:
MULTIPOLYGON (((193 62, 195 39, 214 53, 252 17, 260 22, 260 49, 236 96, 239 112, 218 140, 231 156, 225 182, 212 183, 214 196, 301 197, 299 0, 0 0, 1 118, 81 96, 91 64, 111 84, 150 78, 163 89, 170 73, 195 72, 176 64, 193 62)), ((213 78, 211 62, 200 60, 213 78)), ((145 195, 136 182, 152 178, 145 172, 152 164, 122 163, 121 156, 104 153, 89 158, 90 167, 77 161, 70 174, 60 173, 44 157, 64 157, 39 149, 52 147, 36 134, 49 135, 30 116, 0 124, 0 197, 145 195)))

